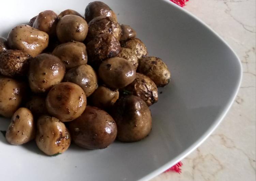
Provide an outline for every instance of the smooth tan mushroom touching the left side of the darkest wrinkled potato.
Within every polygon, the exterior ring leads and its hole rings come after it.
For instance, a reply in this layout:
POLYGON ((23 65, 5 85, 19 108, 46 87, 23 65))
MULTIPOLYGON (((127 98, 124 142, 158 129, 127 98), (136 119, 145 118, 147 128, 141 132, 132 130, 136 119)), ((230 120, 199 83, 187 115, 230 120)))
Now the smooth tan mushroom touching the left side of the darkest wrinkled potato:
POLYGON ((85 44, 81 42, 68 42, 58 45, 52 54, 58 56, 70 69, 82 64, 87 64, 87 52, 85 44))

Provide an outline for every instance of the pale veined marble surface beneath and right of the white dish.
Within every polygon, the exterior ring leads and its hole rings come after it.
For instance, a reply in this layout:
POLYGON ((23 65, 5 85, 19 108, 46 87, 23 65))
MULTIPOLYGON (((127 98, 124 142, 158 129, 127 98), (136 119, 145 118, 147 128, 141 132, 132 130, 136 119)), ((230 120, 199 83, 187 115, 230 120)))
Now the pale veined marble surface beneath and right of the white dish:
POLYGON ((182 173, 163 173, 152 181, 255 181, 255 0, 190 0, 184 8, 235 50, 243 80, 220 126, 182 160, 182 173))

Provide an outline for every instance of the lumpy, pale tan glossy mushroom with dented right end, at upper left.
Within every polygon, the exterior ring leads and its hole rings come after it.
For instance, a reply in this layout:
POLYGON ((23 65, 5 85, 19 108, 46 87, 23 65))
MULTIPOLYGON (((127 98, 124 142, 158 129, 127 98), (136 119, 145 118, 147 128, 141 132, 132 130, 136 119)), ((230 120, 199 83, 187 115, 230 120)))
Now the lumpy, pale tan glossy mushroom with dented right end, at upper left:
POLYGON ((10 49, 22 50, 35 57, 48 46, 49 35, 27 24, 20 24, 10 31, 7 43, 10 49))

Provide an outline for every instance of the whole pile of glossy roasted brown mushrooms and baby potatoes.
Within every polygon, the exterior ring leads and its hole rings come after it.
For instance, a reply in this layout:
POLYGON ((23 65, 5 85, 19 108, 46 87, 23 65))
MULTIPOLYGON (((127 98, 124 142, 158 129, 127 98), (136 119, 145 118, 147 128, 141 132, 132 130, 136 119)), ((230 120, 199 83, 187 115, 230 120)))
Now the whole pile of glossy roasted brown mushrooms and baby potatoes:
POLYGON ((152 129, 149 106, 170 81, 159 58, 101 1, 46 10, 0 37, 0 115, 11 118, 6 140, 35 140, 47 155, 71 141, 103 149, 136 142, 152 129))

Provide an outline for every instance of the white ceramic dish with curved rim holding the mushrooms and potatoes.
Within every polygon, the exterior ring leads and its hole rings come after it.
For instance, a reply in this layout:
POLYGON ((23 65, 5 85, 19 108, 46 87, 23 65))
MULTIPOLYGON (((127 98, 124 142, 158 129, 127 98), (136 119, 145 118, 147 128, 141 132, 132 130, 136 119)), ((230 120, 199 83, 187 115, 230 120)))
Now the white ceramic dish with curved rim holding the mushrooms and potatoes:
MULTIPOLYGON (((84 14, 90 0, 3 1, 0 36, 43 10, 84 14)), ((12 146, 0 135, 1 180, 148 180, 175 164, 219 125, 241 81, 241 64, 206 24, 168 0, 105 0, 121 23, 130 24, 149 54, 162 57, 172 81, 151 106, 152 133, 137 143, 116 142, 103 150, 72 145, 47 157, 35 143, 12 146)), ((0 118, 0 130, 8 120, 0 118)))

